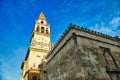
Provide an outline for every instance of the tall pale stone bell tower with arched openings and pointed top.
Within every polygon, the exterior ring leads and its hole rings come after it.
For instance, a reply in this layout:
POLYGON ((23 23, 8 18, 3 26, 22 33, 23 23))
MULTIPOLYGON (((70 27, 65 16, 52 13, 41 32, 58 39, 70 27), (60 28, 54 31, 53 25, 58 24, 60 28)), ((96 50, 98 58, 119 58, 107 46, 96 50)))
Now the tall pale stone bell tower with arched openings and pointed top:
POLYGON ((40 80, 39 64, 51 49, 50 25, 43 13, 35 22, 30 47, 22 63, 22 80, 40 80))

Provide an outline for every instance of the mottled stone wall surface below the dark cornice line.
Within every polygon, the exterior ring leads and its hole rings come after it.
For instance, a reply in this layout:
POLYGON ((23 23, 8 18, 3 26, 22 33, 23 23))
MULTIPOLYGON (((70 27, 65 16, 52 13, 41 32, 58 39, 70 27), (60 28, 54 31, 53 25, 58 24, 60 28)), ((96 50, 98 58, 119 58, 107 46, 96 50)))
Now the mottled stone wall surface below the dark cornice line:
MULTIPOLYGON (((82 37, 77 37, 76 41, 77 44, 71 38, 64 47, 57 48, 56 52, 53 51, 57 54, 52 55, 47 63, 48 80, 111 80, 110 77, 117 80, 115 75, 106 73, 106 66, 110 69, 116 69, 116 66, 108 52, 104 53, 100 46, 110 49, 118 67, 120 67, 120 47, 82 37)), ((117 44, 110 40, 108 42, 117 44)), ((62 44, 64 43, 60 45, 62 44)))

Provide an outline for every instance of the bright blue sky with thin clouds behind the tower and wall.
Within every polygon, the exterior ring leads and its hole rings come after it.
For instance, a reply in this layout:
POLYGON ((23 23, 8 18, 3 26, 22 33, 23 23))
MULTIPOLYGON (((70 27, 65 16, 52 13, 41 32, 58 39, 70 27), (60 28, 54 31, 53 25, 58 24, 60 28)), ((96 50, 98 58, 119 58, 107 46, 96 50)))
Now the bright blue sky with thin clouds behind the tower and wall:
POLYGON ((0 80, 19 80, 32 29, 43 12, 55 43, 70 23, 120 37, 120 0, 0 0, 0 80))

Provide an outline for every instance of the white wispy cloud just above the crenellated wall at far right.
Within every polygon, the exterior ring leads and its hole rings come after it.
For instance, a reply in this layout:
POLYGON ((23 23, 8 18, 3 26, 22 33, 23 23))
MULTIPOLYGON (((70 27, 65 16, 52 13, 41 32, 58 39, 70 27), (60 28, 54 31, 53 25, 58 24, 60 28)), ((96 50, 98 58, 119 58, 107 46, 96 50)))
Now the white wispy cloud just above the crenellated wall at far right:
POLYGON ((117 27, 115 27, 116 25, 118 25, 118 19, 116 20, 111 20, 109 22, 114 22, 114 25, 109 25, 109 23, 105 23, 105 22, 101 22, 101 23, 97 23, 94 26, 91 26, 90 28, 92 30, 101 32, 103 34, 107 34, 107 35, 111 35, 111 36, 120 36, 120 30, 117 29, 117 27))

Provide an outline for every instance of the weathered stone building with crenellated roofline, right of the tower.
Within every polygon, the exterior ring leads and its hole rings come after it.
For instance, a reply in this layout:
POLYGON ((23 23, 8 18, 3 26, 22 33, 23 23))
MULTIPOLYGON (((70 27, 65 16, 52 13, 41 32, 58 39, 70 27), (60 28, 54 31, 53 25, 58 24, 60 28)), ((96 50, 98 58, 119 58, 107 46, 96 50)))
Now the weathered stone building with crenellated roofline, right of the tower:
MULTIPOLYGON (((111 80, 106 70, 116 69, 113 58, 120 66, 120 47, 108 35, 101 37, 87 31, 101 35, 86 28, 76 30, 76 25, 70 25, 68 32, 46 57, 48 80, 111 80), (107 52, 104 48, 108 49, 107 52)), ((115 74, 112 76, 116 80, 115 74)))

